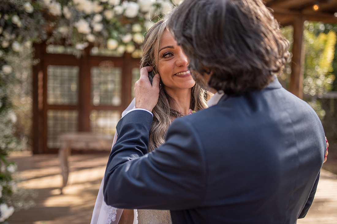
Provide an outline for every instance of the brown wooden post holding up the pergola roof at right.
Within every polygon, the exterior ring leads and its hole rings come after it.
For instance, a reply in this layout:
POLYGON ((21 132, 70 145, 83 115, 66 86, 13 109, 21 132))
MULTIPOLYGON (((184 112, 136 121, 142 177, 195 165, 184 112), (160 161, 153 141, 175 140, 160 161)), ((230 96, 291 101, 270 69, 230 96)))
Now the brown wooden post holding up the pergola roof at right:
POLYGON ((301 15, 298 15, 293 22, 294 43, 291 63, 292 74, 289 83, 289 91, 301 99, 303 98, 304 77, 303 23, 304 18, 301 15))

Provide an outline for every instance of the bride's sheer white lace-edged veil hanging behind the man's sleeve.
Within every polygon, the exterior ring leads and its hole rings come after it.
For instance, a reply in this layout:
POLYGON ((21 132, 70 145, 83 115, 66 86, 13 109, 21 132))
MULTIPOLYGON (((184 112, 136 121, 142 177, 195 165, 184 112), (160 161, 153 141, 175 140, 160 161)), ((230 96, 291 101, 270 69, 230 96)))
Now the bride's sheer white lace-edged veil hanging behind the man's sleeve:
MULTIPOLYGON (((123 111, 122 117, 126 115, 126 113, 135 108, 135 98, 131 101, 129 106, 123 111)), ((114 141, 112 146, 114 146, 117 140, 117 132, 115 133, 114 141)), ((104 176, 101 182, 101 186, 99 187, 94 211, 92 213, 91 223, 90 224, 117 224, 122 215, 123 209, 117 209, 105 204, 104 196, 103 196, 103 184, 104 184, 104 176)), ((134 220, 133 224, 137 224, 137 212, 134 210, 134 220)))

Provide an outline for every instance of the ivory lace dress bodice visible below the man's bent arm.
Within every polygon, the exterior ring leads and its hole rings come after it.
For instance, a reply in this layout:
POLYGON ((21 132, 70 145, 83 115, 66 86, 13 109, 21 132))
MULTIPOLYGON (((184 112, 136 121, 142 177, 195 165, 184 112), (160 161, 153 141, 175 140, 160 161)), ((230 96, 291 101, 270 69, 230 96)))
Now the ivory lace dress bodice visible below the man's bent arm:
POLYGON ((138 209, 138 224, 172 224, 169 210, 138 209))

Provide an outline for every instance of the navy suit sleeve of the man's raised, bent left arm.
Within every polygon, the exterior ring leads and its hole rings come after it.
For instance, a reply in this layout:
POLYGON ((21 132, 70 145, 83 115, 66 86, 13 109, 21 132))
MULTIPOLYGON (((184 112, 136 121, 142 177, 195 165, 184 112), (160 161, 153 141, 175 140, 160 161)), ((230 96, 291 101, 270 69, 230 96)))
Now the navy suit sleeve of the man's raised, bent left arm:
POLYGON ((139 110, 118 123, 117 142, 105 171, 106 204, 125 209, 197 207, 206 189, 200 139, 186 119, 176 119, 165 143, 147 153, 151 124, 151 114, 139 110))

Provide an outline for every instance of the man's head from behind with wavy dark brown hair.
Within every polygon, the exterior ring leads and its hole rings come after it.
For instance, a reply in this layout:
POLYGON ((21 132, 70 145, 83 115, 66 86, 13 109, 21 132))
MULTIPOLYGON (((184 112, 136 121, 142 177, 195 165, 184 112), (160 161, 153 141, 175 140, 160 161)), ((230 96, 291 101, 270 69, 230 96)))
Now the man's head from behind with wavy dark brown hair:
POLYGON ((211 72, 209 86, 228 95, 266 87, 289 55, 289 42, 261 0, 185 0, 167 27, 192 72, 211 72))

